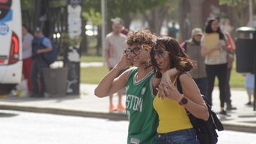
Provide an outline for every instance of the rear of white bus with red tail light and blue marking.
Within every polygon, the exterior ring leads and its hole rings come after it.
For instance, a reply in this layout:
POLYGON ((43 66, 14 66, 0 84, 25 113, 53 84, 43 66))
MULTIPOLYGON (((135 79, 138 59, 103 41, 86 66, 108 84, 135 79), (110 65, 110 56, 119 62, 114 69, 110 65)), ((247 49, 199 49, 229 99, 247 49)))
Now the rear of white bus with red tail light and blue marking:
POLYGON ((20 0, 0 0, 0 94, 6 94, 22 76, 20 0))

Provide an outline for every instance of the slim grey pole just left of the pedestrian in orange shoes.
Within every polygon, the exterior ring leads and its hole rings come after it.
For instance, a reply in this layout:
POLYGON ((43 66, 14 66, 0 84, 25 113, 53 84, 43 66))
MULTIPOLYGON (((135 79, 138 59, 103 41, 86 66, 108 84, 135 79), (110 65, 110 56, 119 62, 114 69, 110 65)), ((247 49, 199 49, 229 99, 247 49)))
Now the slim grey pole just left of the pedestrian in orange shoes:
MULTIPOLYGON (((101 12, 102 12, 102 56, 105 57, 105 0, 101 0, 101 12)), ((104 58, 103 58, 104 59, 104 58)))

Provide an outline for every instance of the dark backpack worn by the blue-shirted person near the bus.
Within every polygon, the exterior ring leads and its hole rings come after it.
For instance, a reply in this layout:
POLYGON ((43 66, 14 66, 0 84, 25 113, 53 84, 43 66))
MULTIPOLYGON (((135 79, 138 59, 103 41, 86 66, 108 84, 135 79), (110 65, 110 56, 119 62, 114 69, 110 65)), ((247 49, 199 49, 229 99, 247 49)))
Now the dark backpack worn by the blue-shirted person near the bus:
MULTIPOLYGON (((42 45, 42 40, 45 39, 45 37, 43 37, 41 39, 41 45, 42 45)), ((50 65, 53 64, 54 61, 56 61, 58 55, 59 55, 59 48, 57 48, 57 46, 50 40, 51 45, 53 46, 53 50, 50 53, 44 53, 42 55, 42 58, 45 60, 45 62, 50 65)), ((42 45, 43 47, 45 47, 44 45, 42 45)))

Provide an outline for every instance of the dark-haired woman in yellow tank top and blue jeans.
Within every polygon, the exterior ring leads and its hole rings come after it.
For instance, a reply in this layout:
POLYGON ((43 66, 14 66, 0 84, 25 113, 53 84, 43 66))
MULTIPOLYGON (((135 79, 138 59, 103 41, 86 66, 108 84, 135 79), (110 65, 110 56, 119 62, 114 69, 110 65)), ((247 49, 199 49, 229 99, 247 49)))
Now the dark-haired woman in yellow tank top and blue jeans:
POLYGON ((171 37, 157 38, 151 50, 151 62, 156 76, 162 77, 158 96, 153 103, 159 115, 157 143, 200 143, 185 110, 197 118, 208 119, 208 109, 200 91, 192 77, 184 73, 178 77, 183 89, 183 94, 180 94, 176 87, 177 75, 166 75, 166 71, 172 68, 188 72, 194 62, 184 54, 176 39, 171 37))

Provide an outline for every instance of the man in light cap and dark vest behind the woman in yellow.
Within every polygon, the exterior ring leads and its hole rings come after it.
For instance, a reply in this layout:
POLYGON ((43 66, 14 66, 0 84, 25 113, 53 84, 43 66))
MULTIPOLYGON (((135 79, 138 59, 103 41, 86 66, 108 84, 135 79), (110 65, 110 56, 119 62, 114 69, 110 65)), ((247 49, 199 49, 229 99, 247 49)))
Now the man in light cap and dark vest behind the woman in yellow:
POLYGON ((186 40, 181 44, 181 47, 184 48, 184 52, 191 58, 193 61, 197 62, 197 67, 192 69, 189 74, 197 83, 200 93, 206 96, 208 81, 206 75, 206 64, 205 57, 201 56, 201 38, 203 31, 200 28, 192 29, 191 38, 186 40))

